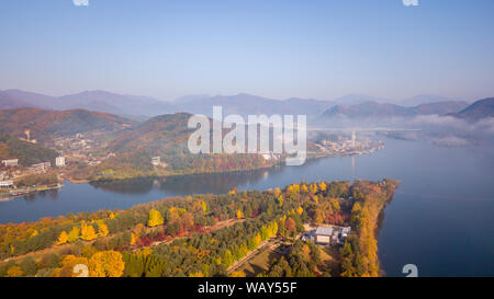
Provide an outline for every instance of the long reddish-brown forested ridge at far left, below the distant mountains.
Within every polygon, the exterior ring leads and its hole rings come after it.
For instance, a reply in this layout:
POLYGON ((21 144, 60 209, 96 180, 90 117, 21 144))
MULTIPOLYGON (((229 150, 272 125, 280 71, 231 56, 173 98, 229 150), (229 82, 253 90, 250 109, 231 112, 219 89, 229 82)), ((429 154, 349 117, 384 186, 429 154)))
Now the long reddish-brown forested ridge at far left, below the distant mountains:
POLYGON ((47 111, 32 107, 0 110, 0 131, 16 137, 47 140, 53 135, 67 136, 93 130, 116 131, 134 122, 112 114, 85 110, 47 111))

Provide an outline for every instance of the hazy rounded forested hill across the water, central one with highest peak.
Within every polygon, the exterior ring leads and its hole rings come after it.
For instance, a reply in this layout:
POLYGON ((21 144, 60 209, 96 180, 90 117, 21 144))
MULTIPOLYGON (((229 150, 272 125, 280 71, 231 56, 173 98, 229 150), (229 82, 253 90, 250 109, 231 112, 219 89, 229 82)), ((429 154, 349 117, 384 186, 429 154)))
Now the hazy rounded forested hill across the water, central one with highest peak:
MULTIPOLYGON (((116 153, 87 171, 90 181, 130 179, 169 174, 245 171, 271 166, 274 161, 260 154, 192 154, 187 142, 195 128, 189 129, 188 113, 155 116, 116 134, 106 148, 116 153), (151 157, 161 158, 154 166, 151 157)), ((85 171, 83 171, 85 172, 85 171)), ((81 175, 78 174, 78 177, 81 175)))

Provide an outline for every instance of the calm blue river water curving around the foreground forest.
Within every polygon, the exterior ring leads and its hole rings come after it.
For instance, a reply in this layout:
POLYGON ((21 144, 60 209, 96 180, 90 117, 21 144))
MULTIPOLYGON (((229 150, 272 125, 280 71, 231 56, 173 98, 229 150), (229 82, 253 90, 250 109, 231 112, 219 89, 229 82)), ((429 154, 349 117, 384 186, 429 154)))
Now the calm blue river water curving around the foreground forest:
POLYGON ((300 181, 391 177, 403 183, 385 209, 379 255, 389 276, 415 264, 419 276, 494 276, 493 147, 436 147, 385 140, 371 156, 310 161, 269 171, 70 184, 59 192, 0 203, 0 222, 101 208, 128 208, 194 193, 266 189, 300 181))

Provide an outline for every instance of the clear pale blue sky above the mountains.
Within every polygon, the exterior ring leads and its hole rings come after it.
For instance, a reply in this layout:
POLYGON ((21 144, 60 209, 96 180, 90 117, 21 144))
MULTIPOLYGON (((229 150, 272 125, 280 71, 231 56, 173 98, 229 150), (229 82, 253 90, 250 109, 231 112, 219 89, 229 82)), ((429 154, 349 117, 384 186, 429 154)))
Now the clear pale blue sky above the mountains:
POLYGON ((494 1, 2 0, 0 89, 494 96, 494 1))

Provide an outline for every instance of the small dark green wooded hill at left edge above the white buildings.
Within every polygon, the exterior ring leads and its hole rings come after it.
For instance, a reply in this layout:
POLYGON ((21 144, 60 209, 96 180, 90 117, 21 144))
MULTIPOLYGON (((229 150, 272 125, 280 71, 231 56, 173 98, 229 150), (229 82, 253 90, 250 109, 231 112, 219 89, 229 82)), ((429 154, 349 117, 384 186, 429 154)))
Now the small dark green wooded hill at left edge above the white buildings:
POLYGON ((19 159, 19 164, 27 166, 41 162, 55 162, 57 152, 38 143, 20 140, 0 133, 0 160, 19 159))

